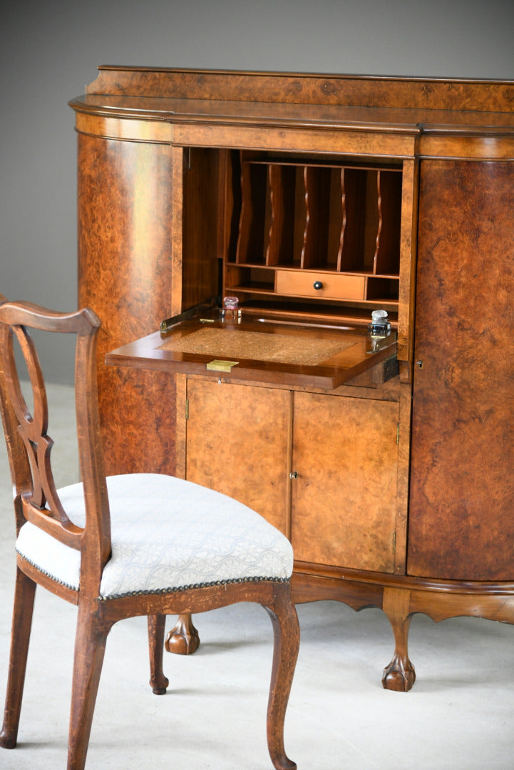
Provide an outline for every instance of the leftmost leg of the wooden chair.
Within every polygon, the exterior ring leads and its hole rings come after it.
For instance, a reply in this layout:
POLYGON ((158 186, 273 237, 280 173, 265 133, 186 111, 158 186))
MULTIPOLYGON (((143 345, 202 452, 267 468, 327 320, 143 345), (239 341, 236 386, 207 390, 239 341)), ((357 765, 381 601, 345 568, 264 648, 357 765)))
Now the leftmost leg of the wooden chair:
POLYGON ((0 732, 0 746, 3 748, 15 748, 18 740, 35 586, 35 582, 17 567, 7 695, 5 696, 4 724, 0 732))

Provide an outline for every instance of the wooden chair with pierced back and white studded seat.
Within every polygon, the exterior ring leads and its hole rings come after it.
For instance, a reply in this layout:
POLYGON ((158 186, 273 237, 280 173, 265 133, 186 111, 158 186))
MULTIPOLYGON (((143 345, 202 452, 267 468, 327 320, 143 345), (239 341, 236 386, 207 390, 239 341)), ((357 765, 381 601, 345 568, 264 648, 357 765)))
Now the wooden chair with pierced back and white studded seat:
POLYGON ((274 651, 267 738, 275 768, 285 755, 283 728, 299 647, 291 600, 292 548, 259 514, 212 490, 159 474, 105 478, 98 430, 96 336, 92 310, 55 313, 0 295, 0 402, 12 472, 17 570, 11 655, 0 745, 14 748, 22 705, 36 584, 78 605, 68 770, 82 770, 105 641, 112 625, 148 616, 150 685, 162 671, 166 614, 239 601, 272 618, 274 651), (82 483, 55 489, 42 369, 28 328, 75 333, 75 401, 82 483), (29 413, 13 353, 18 340, 34 399, 29 413))

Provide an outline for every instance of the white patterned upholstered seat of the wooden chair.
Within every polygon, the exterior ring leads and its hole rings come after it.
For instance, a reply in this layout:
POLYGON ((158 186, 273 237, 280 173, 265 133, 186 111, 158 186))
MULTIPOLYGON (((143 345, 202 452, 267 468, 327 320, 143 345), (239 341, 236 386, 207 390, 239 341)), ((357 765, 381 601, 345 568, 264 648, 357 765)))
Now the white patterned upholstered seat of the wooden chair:
MULTIPOLYGON (((107 488, 112 556, 102 573, 102 599, 291 577, 289 541, 231 497, 159 474, 111 476, 107 488)), ((58 495, 71 521, 83 527, 82 484, 58 495)), ((29 522, 16 550, 55 581, 79 588, 79 551, 29 522)))

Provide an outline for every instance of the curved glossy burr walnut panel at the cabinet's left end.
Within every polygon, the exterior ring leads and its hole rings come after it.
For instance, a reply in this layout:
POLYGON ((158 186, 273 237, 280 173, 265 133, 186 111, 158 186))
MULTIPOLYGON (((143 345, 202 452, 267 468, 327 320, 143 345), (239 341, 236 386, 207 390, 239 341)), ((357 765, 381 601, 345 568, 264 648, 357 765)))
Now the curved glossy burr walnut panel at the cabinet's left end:
POLYGON ((102 319, 98 393, 107 472, 172 471, 173 434, 159 427, 173 420, 173 382, 103 363, 108 350, 155 330, 169 312, 170 148, 79 134, 78 169, 78 303, 102 319))

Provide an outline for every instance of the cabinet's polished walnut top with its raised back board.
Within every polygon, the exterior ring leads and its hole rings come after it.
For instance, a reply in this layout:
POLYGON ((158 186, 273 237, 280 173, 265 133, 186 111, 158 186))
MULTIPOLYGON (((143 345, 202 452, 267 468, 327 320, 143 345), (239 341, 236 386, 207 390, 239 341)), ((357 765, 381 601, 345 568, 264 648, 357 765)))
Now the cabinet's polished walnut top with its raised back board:
POLYGON ((78 112, 162 121, 514 133, 514 81, 102 66, 78 112))

